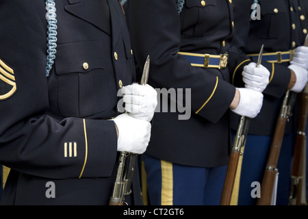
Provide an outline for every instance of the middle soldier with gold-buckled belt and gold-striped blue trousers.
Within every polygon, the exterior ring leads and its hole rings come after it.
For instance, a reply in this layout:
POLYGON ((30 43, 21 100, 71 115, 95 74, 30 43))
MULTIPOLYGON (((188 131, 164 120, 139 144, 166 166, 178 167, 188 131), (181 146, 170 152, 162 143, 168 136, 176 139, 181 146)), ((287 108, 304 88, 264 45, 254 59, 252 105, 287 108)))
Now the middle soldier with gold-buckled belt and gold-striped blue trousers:
MULTIPOLYGON (((129 0, 125 7, 139 68, 149 54, 149 83, 173 88, 177 96, 183 90, 193 112, 180 119, 183 105, 177 101, 180 110, 172 112, 172 96, 164 112, 168 94, 162 93, 151 142, 142 155, 149 203, 218 205, 230 151, 229 110, 253 118, 262 105, 261 92, 229 83, 229 68, 235 67, 227 64, 235 49, 233 3, 129 0)), ((265 68, 253 70, 269 75, 265 68)), ((261 79, 261 86, 266 80, 261 79)))

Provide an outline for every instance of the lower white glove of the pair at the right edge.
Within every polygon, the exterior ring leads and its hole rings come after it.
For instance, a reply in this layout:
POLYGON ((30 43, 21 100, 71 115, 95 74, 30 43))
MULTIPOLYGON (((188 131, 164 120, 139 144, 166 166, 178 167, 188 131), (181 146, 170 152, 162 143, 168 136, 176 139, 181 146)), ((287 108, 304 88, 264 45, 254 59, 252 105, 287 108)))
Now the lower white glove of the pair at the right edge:
POLYGON ((287 68, 293 70, 296 76, 295 84, 290 90, 293 92, 301 92, 307 83, 308 71, 297 64, 290 64, 287 68))

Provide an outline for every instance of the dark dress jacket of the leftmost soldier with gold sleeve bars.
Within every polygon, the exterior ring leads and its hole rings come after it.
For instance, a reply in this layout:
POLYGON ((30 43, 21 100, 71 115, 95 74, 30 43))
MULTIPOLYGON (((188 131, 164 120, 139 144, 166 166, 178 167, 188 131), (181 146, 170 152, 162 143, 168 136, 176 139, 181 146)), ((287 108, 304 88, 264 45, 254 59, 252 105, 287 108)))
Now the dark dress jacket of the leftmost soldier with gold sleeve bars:
POLYGON ((57 53, 46 77, 44 1, 0 2, 0 163, 11 168, 1 203, 107 205, 118 163, 109 119, 136 74, 125 16, 116 0, 55 7, 57 53))

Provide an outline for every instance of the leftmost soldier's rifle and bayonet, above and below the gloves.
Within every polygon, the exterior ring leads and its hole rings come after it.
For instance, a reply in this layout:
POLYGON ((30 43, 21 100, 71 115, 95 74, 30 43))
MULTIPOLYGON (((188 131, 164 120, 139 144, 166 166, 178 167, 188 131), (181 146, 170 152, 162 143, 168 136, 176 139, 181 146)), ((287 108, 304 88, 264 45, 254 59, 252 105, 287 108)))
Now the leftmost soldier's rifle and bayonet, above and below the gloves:
MULTIPOLYGON (((146 58, 141 85, 146 85, 149 77, 150 57, 146 58)), ((118 172, 116 173, 116 181, 114 190, 110 196, 109 205, 123 205, 125 195, 131 194, 131 183, 133 181, 133 172, 136 168, 137 154, 121 151, 118 161, 118 172)))

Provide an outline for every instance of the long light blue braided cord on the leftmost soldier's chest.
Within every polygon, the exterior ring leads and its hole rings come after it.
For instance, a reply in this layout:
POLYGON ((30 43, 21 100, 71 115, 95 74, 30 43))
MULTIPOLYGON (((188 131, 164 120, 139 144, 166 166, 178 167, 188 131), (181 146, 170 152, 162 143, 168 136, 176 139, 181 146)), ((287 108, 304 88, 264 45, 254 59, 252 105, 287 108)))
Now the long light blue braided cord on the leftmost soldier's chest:
POLYGON ((46 77, 49 76, 54 60, 55 53, 57 53, 57 15, 55 14, 54 0, 46 0, 46 19, 47 19, 47 63, 46 63, 46 77))

